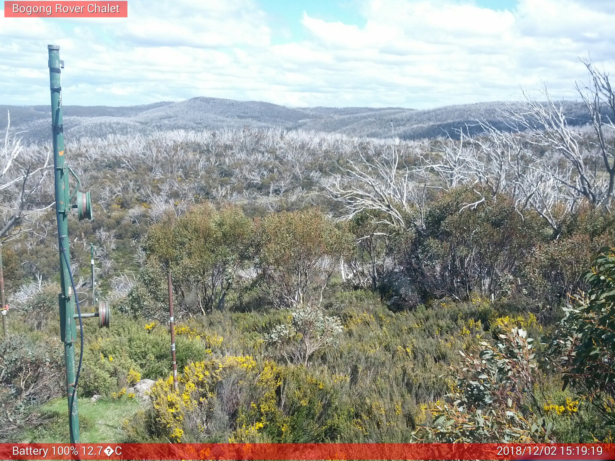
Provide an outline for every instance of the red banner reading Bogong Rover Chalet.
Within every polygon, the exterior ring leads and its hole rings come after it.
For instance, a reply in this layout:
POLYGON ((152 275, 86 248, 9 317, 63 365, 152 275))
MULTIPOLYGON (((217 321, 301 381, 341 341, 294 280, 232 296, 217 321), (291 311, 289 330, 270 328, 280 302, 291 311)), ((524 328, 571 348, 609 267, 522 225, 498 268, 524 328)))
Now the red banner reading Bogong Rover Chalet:
POLYGON ((5 18, 127 18, 127 1, 4 2, 5 18))

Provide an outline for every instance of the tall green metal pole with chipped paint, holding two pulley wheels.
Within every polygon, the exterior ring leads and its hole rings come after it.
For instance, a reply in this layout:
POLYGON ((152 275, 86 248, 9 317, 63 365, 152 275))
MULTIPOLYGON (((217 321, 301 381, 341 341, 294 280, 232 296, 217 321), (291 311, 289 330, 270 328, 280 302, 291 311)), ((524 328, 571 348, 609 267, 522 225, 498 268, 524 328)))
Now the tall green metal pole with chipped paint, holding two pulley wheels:
POLYGON ((71 443, 79 443, 79 414, 77 399, 71 406, 71 396, 75 383, 75 341, 77 341, 76 324, 74 320, 74 296, 71 293, 68 265, 70 249, 68 241, 68 213, 70 210, 68 168, 65 166, 64 135, 62 125, 62 87, 60 86, 60 47, 48 45, 49 50, 49 82, 51 90, 52 133, 54 139, 54 173, 55 173, 55 211, 58 219, 58 244, 60 254, 60 283, 62 293, 60 304, 60 334, 64 341, 64 357, 66 360, 66 395, 68 396, 68 418, 71 443), (65 258, 62 253, 66 255, 65 258))

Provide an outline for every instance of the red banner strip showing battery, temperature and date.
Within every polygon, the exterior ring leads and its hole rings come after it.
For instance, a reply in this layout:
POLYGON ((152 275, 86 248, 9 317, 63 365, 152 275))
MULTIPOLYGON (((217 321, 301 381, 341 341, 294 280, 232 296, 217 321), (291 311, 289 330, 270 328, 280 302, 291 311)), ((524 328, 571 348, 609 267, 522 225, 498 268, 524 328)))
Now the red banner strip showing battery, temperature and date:
POLYGON ((598 460, 615 444, 0 444, 2 460, 598 460))

